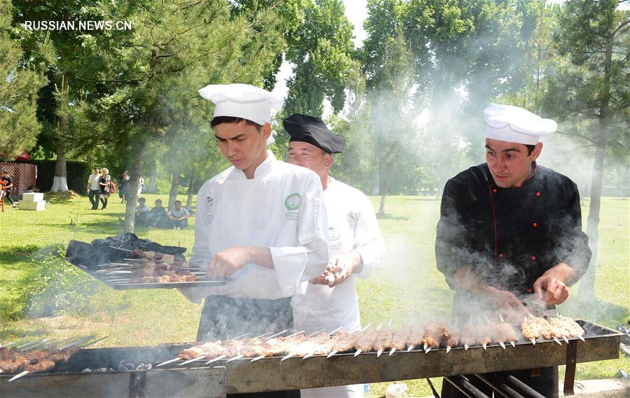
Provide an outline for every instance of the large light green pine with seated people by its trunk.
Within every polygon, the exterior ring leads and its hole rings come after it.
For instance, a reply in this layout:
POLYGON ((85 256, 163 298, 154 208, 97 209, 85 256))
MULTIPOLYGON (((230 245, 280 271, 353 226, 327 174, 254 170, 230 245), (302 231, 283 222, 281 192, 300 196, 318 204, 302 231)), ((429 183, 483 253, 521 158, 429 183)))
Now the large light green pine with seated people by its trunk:
MULTIPOLYGON (((210 83, 261 85, 284 50, 282 19, 273 7, 231 13, 220 0, 146 1, 137 8, 102 3, 109 20, 130 20, 134 29, 114 51, 99 49, 107 65, 95 80, 114 91, 98 101, 116 138, 116 152, 132 159, 125 231, 134 229, 137 178, 147 145, 172 142, 191 107, 210 115, 197 90, 210 83), (121 80, 120 76, 124 76, 121 80)), ((198 130, 197 130, 198 131, 198 130)), ((181 155, 180 155, 181 156, 181 155)))

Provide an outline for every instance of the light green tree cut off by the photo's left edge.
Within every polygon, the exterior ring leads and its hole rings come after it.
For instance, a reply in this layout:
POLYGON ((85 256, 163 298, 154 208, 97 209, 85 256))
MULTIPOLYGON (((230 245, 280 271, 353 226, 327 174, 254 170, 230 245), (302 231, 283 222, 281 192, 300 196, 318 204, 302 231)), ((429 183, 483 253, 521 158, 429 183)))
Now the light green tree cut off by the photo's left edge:
POLYGON ((36 99, 46 78, 22 61, 22 49, 10 36, 10 0, 0 0, 0 159, 13 159, 35 146, 41 124, 36 99))

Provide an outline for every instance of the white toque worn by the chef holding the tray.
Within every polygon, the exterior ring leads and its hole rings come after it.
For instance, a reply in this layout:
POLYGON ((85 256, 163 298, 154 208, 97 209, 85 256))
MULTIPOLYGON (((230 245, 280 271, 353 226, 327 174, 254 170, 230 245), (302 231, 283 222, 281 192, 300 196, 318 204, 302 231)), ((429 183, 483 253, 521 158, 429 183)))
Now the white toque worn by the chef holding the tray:
POLYGON ((253 85, 207 85, 199 90, 201 97, 214 103, 214 115, 251 120, 264 125, 271 120, 271 109, 280 110, 282 100, 253 85))

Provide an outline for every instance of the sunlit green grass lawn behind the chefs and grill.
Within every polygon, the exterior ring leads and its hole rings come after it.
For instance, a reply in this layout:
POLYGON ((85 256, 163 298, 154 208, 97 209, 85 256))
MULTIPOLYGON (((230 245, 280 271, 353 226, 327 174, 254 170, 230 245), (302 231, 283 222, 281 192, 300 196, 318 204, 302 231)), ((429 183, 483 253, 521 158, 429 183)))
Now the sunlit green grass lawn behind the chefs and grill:
MULTIPOLYGON (((158 197, 145 195, 152 205, 158 197)), ((32 302, 59 299, 55 292, 39 290, 32 281, 46 253, 70 239, 90 242, 122 233, 118 217, 124 205, 114 195, 106 211, 91 211, 87 198, 46 195, 46 211, 7 208, 0 215, 0 341, 24 334, 56 337, 76 334, 109 336, 100 346, 151 346, 193 341, 201 306, 186 301, 175 290, 117 291, 89 278, 76 278, 76 293, 83 301, 69 304, 62 316, 36 318, 32 302), (35 260, 32 260, 32 259, 35 260), (31 302, 31 304, 32 304, 31 302)), ((185 197, 178 199, 185 201, 185 197)), ((378 199, 372 198, 375 206, 378 199)), ((586 203, 588 206, 588 201, 586 203)), ((194 208, 193 208, 194 210, 194 208)), ((439 201, 429 197, 388 197, 388 217, 379 220, 387 254, 371 278, 359 282, 363 323, 403 325, 411 319, 451 313, 452 292, 435 268, 433 252, 439 201)), ((588 207, 582 209, 584 222, 588 207)), ((137 229, 141 238, 188 248, 193 245, 194 218, 182 231, 137 229)), ((625 323, 630 315, 630 201, 604 198, 596 277, 597 301, 579 306, 572 297, 559 308, 564 314, 601 322, 608 327, 625 323)), ((189 254, 189 253, 186 253, 189 254)), ((74 271, 73 271, 74 272, 74 271)), ((610 378, 617 370, 630 371, 630 360, 578 364, 578 378, 610 378)), ((439 385, 439 379, 434 379, 439 385)), ((410 394, 430 395, 425 381, 407 381, 410 394)), ((371 386, 371 397, 385 395, 385 383, 371 386)))

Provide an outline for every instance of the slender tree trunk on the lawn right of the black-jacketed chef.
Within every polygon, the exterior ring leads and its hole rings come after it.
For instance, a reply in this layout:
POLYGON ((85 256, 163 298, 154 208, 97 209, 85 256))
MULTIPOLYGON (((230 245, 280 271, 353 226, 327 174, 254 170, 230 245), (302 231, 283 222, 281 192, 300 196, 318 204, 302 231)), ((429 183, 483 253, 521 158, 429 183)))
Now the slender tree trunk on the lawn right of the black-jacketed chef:
POLYGON ((597 249, 599 243, 599 211, 601 209, 601 188, 604 173, 604 159, 606 157, 606 141, 608 134, 608 104, 610 102, 610 66, 612 60, 612 43, 606 44, 604 62, 604 80, 599 98, 599 123, 596 138, 595 160, 593 162, 593 175, 591 176, 591 205, 587 220, 587 234, 589 235, 589 247, 593 256, 589 269, 580 281, 580 300, 584 303, 592 303, 595 299, 595 276, 597 268, 597 249))

